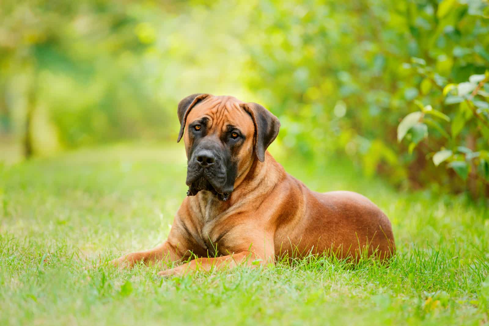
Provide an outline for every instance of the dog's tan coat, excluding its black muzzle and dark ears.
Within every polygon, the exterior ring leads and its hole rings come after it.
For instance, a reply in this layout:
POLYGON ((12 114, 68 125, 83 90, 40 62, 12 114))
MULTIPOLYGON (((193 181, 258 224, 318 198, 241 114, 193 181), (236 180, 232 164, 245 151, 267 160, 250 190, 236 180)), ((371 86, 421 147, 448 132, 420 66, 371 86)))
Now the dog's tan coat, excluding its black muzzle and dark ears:
MULTIPOLYGON (((266 152, 260 162, 254 155, 256 130, 250 115, 233 97, 210 96, 188 114, 186 125, 207 117, 209 134, 219 139, 227 124, 238 126, 246 140, 238 155, 234 191, 226 202, 208 191, 186 197, 175 216, 166 242, 144 252, 123 256, 112 263, 132 266, 155 260, 190 263, 159 275, 184 274, 212 267, 274 263, 281 256, 335 254, 358 259, 368 250, 380 259, 394 254, 395 245, 387 216, 366 197, 348 191, 317 193, 290 176, 266 152)), ((191 147, 184 134, 187 157, 191 147)))

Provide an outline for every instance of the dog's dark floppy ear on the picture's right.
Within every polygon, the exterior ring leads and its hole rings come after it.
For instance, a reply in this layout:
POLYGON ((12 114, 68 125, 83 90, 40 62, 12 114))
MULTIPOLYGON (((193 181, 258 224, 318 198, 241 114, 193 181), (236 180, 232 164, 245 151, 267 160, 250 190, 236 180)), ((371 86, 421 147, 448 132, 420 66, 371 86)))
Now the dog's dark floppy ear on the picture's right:
POLYGON ((258 103, 243 103, 240 106, 248 112, 255 124, 255 151, 260 162, 265 161, 265 151, 275 140, 280 129, 280 121, 258 103))

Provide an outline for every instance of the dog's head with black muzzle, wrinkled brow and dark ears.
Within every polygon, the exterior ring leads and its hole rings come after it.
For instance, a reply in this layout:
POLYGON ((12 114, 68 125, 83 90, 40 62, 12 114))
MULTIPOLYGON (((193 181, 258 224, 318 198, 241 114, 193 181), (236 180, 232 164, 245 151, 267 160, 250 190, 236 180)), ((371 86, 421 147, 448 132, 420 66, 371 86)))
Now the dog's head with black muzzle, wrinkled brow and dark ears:
POLYGON ((226 201, 255 157, 277 137, 280 122, 263 106, 227 96, 194 94, 178 104, 180 134, 187 153, 188 195, 200 190, 226 201))

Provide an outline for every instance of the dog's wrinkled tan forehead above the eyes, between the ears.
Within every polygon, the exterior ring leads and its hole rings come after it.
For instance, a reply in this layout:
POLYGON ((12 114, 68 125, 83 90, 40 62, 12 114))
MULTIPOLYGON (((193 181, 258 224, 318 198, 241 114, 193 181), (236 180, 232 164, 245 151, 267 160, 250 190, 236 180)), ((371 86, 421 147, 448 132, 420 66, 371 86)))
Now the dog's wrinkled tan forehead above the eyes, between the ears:
POLYGON ((254 133, 254 125, 251 116, 240 106, 243 103, 231 96, 214 96, 198 103, 190 111, 187 124, 202 118, 209 120, 208 128, 225 130, 228 125, 233 125, 245 135, 254 133))

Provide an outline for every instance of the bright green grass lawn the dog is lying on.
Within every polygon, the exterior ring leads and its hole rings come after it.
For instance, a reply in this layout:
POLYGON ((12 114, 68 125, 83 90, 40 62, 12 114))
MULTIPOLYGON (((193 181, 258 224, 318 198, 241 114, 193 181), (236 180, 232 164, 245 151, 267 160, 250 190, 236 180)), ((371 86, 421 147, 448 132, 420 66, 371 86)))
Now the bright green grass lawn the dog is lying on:
POLYGON ((399 193, 348 162, 278 159, 314 190, 377 203, 394 228, 391 264, 319 258, 173 279, 157 266, 84 270, 165 239, 186 193, 181 144, 85 149, 0 165, 0 325, 488 323, 487 208, 399 193))

